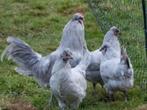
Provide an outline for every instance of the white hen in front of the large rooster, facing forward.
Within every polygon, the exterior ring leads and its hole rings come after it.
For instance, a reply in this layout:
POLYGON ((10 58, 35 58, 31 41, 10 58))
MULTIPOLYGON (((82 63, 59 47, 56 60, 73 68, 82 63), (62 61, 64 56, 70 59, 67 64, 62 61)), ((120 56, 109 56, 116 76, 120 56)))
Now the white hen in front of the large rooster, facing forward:
POLYGON ((90 57, 86 53, 74 68, 69 63, 70 59, 72 59, 72 54, 66 49, 56 61, 50 79, 50 88, 58 101, 60 110, 64 110, 66 107, 72 110, 78 109, 79 104, 86 96, 85 72, 90 57))

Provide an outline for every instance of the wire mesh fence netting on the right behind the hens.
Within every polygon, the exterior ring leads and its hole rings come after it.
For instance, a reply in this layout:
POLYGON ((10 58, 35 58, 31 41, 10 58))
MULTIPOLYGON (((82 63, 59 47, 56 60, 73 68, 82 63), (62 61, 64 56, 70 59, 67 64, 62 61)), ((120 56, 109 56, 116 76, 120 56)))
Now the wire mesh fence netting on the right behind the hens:
POLYGON ((122 33, 121 45, 127 49, 133 64, 135 83, 147 90, 147 63, 141 0, 87 0, 87 3, 103 33, 113 25, 119 27, 122 33))

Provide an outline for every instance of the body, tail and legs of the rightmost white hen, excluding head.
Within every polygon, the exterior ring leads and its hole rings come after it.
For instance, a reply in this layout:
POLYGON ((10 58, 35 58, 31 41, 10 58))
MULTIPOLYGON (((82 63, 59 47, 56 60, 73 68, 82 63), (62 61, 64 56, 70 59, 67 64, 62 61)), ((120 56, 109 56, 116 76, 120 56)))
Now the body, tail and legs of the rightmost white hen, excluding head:
POLYGON ((124 49, 121 51, 121 58, 113 58, 100 65, 100 74, 109 98, 112 98, 115 91, 123 91, 127 101, 128 89, 133 87, 134 83, 134 72, 124 49))

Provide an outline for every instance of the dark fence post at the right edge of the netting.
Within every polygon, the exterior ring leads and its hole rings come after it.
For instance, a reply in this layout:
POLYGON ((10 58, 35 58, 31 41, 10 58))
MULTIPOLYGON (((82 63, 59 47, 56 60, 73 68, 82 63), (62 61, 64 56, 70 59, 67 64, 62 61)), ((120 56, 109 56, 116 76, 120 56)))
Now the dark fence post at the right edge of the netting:
POLYGON ((146 9, 145 0, 142 0, 142 9, 143 9, 143 16, 144 16, 145 51, 146 51, 146 57, 147 57, 147 9, 146 9))

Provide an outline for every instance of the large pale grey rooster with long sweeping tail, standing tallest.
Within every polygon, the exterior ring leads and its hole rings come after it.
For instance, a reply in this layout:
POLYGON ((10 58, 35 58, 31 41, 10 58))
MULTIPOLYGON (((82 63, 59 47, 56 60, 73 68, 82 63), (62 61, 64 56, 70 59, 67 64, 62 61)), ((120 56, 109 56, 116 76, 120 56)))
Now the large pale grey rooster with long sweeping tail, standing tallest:
POLYGON ((8 46, 1 55, 12 59, 18 67, 15 69, 19 74, 33 76, 41 86, 47 87, 51 77, 52 67, 61 52, 69 48, 73 52, 73 59, 70 60, 72 67, 75 67, 86 50, 84 38, 83 15, 76 13, 63 29, 62 40, 59 47, 43 57, 35 52, 28 44, 15 37, 8 37, 8 46))

